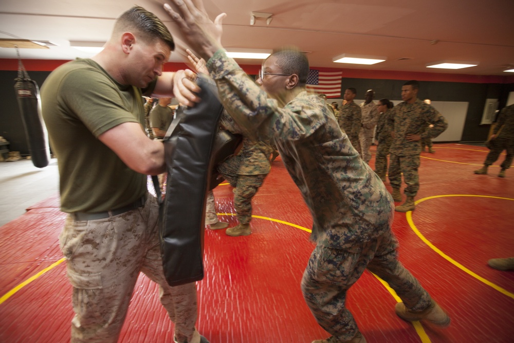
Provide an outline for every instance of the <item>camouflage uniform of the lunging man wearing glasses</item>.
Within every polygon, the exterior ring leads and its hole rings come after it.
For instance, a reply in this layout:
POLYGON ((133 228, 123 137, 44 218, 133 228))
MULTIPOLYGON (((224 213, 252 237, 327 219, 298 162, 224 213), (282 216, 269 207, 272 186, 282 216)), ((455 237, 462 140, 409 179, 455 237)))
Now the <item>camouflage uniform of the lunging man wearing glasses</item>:
POLYGON ((320 326, 338 341, 356 335, 344 302, 366 267, 387 281, 408 308, 426 309, 430 296, 396 258, 392 197, 321 99, 301 92, 280 107, 223 50, 207 67, 240 127, 255 140, 273 138, 313 216, 316 248, 302 291, 320 326))

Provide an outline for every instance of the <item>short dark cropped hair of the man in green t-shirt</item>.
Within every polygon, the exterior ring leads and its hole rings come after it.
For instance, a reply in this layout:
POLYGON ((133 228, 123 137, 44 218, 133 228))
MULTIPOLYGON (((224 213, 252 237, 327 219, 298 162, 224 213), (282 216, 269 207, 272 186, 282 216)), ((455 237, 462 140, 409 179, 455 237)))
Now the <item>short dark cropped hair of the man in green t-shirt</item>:
POLYGON ((160 39, 170 47, 170 50, 175 49, 175 43, 168 28, 155 14, 140 6, 134 6, 125 11, 114 25, 114 32, 121 34, 131 31, 137 33, 139 38, 146 42, 155 42, 160 39))

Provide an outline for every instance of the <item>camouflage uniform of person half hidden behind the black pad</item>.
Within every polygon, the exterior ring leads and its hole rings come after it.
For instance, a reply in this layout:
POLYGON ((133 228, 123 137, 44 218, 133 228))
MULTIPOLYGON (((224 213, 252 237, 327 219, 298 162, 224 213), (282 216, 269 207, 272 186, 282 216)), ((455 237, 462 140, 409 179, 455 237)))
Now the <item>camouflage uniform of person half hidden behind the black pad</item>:
MULTIPOLYGON (((242 133, 226 111, 221 125, 232 133, 242 133)), ((252 198, 271 169, 269 155, 272 152, 273 148, 269 144, 249 139, 243 133, 241 150, 217 167, 218 172, 234 187, 234 209, 241 224, 249 224, 252 219, 252 198)))

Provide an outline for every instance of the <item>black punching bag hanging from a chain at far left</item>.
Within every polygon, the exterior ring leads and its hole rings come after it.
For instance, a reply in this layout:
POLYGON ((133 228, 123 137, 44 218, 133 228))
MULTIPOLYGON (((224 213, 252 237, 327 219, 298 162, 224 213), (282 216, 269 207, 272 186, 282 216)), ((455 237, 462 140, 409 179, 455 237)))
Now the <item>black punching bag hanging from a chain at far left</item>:
POLYGON ((48 148, 48 133, 41 116, 38 84, 30 80, 21 61, 18 67, 18 77, 14 81, 16 81, 14 90, 22 114, 32 163, 38 168, 46 167, 50 159, 50 149, 48 148))

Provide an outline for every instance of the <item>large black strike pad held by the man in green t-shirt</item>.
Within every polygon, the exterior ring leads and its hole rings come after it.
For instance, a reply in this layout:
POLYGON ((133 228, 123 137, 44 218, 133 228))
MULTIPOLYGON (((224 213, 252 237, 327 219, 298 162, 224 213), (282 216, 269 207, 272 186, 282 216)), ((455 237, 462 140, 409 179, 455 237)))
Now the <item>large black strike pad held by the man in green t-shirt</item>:
POLYGON ((223 106, 216 97, 215 84, 201 77, 197 83, 201 102, 178 113, 163 140, 168 179, 159 230, 164 275, 171 286, 204 277, 206 193, 223 106))

